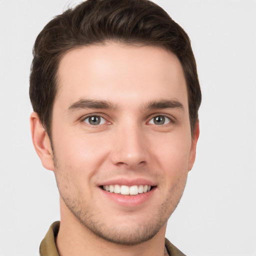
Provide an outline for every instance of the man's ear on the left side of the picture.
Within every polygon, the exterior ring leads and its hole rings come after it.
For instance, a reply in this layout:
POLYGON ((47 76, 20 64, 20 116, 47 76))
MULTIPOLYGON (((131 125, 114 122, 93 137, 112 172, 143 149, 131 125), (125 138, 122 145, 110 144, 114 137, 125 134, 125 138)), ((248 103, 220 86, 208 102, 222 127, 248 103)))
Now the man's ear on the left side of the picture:
POLYGON ((34 149, 40 157, 43 167, 49 170, 54 170, 50 140, 35 112, 32 112, 30 115, 30 129, 34 149))

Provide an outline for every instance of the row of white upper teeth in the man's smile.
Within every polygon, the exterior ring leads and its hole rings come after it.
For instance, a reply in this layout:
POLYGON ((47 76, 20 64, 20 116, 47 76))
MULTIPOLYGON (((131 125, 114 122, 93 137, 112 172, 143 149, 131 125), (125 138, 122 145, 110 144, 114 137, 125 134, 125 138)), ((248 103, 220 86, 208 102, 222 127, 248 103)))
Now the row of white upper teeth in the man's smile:
POLYGON ((125 195, 136 195, 138 193, 145 193, 151 189, 150 185, 133 185, 133 186, 126 186, 126 185, 103 185, 103 189, 109 192, 114 192, 117 194, 125 194, 125 195))

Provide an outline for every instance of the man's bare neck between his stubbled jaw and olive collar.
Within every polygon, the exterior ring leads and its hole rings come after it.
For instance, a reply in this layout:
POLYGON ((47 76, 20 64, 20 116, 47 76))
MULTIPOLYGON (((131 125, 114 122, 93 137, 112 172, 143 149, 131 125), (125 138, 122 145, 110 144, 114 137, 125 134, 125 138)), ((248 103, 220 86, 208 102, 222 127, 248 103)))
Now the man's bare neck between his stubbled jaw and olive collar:
POLYGON ((60 256, 165 256, 168 255, 164 246, 165 229, 166 223, 151 239, 139 244, 116 244, 98 237, 83 226, 69 210, 65 210, 60 215, 56 246, 60 256))

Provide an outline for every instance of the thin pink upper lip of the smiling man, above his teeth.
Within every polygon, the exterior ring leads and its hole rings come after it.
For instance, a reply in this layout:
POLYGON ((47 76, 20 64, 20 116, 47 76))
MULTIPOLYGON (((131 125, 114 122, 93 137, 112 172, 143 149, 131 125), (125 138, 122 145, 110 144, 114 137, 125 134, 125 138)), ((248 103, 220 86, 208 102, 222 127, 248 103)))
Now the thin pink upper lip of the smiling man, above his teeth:
POLYGON ((153 181, 150 181, 146 178, 114 178, 109 179, 106 181, 103 181, 98 184, 98 186, 102 185, 126 185, 126 186, 132 186, 132 185, 150 185, 150 186, 156 186, 156 183, 153 181))

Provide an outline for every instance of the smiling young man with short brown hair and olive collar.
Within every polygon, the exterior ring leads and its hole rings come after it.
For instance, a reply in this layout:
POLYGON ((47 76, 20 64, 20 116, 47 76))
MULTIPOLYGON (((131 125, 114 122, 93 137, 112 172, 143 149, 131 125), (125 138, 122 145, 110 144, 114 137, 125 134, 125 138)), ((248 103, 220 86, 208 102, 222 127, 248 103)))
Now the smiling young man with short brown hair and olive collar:
POLYGON ((184 255, 164 239, 199 135, 183 29, 147 0, 87 0, 33 55, 32 140, 60 194, 40 255, 184 255))

